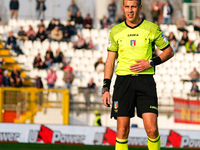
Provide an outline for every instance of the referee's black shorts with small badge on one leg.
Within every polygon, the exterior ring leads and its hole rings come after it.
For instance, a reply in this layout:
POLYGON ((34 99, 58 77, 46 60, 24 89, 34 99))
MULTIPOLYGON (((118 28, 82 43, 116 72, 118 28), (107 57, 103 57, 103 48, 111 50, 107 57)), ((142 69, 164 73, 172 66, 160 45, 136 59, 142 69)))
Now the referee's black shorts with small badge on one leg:
POLYGON ((153 75, 117 76, 112 98, 111 118, 119 116, 142 118, 151 112, 158 116, 158 98, 153 75))

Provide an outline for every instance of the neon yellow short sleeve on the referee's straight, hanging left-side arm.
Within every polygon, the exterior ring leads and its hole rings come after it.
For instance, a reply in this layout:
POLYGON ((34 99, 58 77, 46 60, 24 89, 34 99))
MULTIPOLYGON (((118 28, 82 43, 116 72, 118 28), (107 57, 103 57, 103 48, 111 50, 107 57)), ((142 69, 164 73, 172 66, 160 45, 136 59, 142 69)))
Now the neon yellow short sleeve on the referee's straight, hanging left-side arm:
POLYGON ((112 30, 111 30, 109 38, 108 38, 107 50, 108 51, 112 51, 112 52, 117 52, 118 51, 118 44, 114 39, 112 30))

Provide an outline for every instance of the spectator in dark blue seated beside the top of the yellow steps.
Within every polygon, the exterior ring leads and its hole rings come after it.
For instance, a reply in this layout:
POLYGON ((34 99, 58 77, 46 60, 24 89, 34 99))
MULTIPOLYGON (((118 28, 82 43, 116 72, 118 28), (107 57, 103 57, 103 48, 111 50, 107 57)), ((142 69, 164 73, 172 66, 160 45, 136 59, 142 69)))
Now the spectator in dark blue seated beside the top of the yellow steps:
POLYGON ((16 37, 13 36, 12 31, 8 33, 8 38, 4 47, 8 49, 13 49, 14 52, 17 53, 17 55, 24 54, 22 50, 19 48, 19 46, 17 45, 16 37))

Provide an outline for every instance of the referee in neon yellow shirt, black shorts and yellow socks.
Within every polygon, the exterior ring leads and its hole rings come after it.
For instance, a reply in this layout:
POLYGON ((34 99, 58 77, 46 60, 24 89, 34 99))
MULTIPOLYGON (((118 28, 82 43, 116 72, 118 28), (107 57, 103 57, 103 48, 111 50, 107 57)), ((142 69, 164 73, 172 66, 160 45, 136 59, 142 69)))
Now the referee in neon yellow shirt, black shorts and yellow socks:
POLYGON ((114 85, 111 118, 117 119, 115 150, 128 150, 130 118, 143 119, 148 136, 148 149, 160 150, 158 133, 158 99, 153 79, 155 66, 174 52, 160 28, 139 17, 141 0, 123 0, 126 20, 112 27, 108 40, 108 56, 104 71, 103 98, 110 105, 110 83, 118 54, 117 78, 114 85), (155 55, 155 45, 163 52, 155 55))

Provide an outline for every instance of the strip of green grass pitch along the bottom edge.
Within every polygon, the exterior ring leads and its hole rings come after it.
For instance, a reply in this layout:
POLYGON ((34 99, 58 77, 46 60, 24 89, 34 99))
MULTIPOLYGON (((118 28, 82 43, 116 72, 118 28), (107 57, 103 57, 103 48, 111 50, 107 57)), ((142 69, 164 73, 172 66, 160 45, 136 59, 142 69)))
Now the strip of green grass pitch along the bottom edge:
MULTIPOLYGON (((114 146, 64 145, 64 144, 30 144, 0 143, 0 150, 114 150, 114 146)), ((129 150, 148 150, 147 147, 129 147, 129 150)), ((191 150, 161 148, 161 150, 191 150)))

